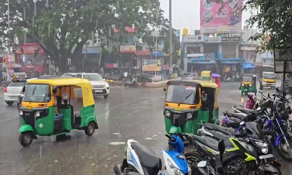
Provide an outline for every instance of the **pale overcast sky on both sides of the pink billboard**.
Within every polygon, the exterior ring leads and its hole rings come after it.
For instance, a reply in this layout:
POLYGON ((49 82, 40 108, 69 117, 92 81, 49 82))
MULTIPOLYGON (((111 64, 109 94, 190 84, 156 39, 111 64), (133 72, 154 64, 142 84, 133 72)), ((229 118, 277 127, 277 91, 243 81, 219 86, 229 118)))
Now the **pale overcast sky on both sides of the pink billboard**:
MULTIPOLYGON (((159 0, 164 17, 169 19, 169 0, 159 0)), ((250 17, 248 12, 242 14, 242 27, 244 21, 250 17)), ((172 0, 172 25, 175 29, 200 29, 200 0, 172 0)))

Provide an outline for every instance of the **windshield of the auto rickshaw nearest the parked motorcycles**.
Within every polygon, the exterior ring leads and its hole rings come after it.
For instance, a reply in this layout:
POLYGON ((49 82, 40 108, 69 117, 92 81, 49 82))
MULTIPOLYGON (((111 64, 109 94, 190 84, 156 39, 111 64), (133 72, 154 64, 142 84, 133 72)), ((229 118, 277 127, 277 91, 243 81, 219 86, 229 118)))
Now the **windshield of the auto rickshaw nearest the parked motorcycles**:
POLYGON ((171 103, 198 104, 199 95, 197 95, 197 87, 168 85, 165 101, 171 103))

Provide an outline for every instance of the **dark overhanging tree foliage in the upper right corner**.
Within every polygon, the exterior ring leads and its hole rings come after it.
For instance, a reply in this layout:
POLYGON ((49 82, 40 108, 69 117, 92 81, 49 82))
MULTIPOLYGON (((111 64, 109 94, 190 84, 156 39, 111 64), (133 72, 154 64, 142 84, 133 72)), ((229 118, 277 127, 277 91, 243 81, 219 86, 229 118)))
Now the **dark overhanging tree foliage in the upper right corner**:
MULTIPOLYGON (((233 0, 208 0, 224 6, 233 0)), ((266 50, 286 49, 292 47, 292 1, 282 0, 240 0, 243 2, 243 11, 250 12, 251 17, 246 20, 249 28, 258 27, 256 34, 250 39, 260 39, 259 52, 266 50), (268 40, 264 39, 267 38, 268 40)), ((284 51, 282 50, 282 51, 284 51)), ((283 54, 283 53, 282 53, 283 54)))

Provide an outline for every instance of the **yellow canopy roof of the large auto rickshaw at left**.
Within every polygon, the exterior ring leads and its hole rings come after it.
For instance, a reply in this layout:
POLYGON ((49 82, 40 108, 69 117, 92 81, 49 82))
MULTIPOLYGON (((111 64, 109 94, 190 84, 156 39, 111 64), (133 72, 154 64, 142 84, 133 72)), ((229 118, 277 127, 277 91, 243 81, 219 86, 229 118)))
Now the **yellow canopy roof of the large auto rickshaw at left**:
MULTIPOLYGON (((94 105, 94 99, 92 95, 92 86, 90 82, 86 79, 81 79, 81 78, 55 78, 55 79, 36 79, 36 80, 30 80, 28 84, 49 84, 52 86, 62 86, 65 87, 65 91, 69 91, 69 88, 66 87, 73 87, 71 90, 71 95, 70 97, 74 97, 74 88, 81 88, 82 90, 82 98, 83 98, 83 106, 90 106, 94 105)), ((63 88, 62 88, 63 89, 63 88)), ((63 90, 61 90, 63 91, 63 90)), ((64 92, 65 92, 64 91, 64 92)), ((62 92, 62 93, 64 93, 62 92)), ((58 94, 58 92, 57 92, 58 94)), ((59 91, 59 94, 61 92, 59 91)), ((76 96, 75 96, 76 97, 76 96)))

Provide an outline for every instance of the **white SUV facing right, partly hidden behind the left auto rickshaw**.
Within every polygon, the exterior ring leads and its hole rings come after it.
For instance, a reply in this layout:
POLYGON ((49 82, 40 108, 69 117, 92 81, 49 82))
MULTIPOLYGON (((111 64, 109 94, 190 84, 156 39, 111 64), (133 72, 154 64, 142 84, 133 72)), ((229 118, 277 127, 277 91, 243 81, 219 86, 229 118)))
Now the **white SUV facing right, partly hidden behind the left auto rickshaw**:
POLYGON ((107 99, 109 95, 109 84, 103 79, 100 74, 96 73, 78 73, 75 78, 83 78, 90 81, 92 86, 93 96, 103 95, 107 99))

